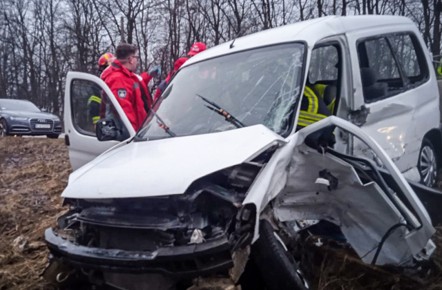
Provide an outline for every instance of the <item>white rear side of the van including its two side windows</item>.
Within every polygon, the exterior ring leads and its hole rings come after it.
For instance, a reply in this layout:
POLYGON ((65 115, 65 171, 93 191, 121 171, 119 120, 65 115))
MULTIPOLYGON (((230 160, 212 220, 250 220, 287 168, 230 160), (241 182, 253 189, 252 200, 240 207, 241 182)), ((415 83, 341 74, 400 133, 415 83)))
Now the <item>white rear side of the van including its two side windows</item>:
MULTIPOLYGON (((428 66, 425 44, 416 27, 387 27, 383 32, 349 34, 354 76, 354 115, 359 124, 414 181, 423 137, 439 127, 439 96, 428 66), (357 106, 357 104, 359 106, 357 106), (360 120, 361 121, 361 120, 360 120)), ((354 142, 354 155, 372 154, 354 142)))

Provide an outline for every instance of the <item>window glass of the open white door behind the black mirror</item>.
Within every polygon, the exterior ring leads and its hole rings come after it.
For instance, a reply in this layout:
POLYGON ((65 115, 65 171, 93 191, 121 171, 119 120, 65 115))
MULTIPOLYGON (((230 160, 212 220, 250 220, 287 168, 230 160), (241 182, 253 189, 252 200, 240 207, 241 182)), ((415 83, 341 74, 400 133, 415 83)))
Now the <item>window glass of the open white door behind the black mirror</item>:
POLYGON ((74 79, 70 86, 71 109, 75 129, 84 135, 96 136, 99 119, 113 119, 121 131, 119 141, 129 137, 117 110, 104 90, 93 81, 74 79))

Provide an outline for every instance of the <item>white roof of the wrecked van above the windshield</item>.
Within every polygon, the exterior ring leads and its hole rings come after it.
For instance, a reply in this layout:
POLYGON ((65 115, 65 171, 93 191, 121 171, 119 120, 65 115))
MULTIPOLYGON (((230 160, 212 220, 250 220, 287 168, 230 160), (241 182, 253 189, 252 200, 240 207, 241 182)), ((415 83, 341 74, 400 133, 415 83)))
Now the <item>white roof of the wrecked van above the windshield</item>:
POLYGON ((260 46, 269 46, 291 41, 305 41, 309 46, 314 46, 316 42, 325 37, 340 35, 353 30, 410 24, 414 26, 414 23, 410 19, 401 16, 357 15, 320 17, 240 37, 236 39, 233 48, 230 48, 232 41, 227 41, 195 55, 195 57, 186 61, 183 67, 204 59, 260 46))

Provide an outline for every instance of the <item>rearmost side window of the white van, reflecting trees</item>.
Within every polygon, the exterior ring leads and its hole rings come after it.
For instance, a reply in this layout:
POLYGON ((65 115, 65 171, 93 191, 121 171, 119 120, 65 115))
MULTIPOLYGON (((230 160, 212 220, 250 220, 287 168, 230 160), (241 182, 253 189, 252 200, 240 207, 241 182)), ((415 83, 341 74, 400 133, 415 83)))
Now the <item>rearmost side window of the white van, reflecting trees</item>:
POLYGON ((428 68, 425 55, 419 41, 414 35, 401 33, 389 36, 398 63, 409 84, 415 87, 428 79, 428 68))

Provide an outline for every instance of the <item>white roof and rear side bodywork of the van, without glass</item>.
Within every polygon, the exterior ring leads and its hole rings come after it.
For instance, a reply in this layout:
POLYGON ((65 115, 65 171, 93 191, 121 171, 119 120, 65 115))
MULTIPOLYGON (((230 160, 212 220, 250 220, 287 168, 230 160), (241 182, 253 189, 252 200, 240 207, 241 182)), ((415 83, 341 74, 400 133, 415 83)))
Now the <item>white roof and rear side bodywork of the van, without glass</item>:
MULTIPOLYGON (((417 171, 419 151, 426 133, 438 129, 440 124, 439 95, 434 70, 431 69, 432 60, 425 53, 430 77, 428 81, 412 90, 398 94, 394 97, 365 104, 362 93, 362 81, 358 65, 356 41, 358 39, 383 35, 393 32, 413 32, 419 39, 424 52, 427 51, 425 43, 415 24, 407 17, 397 16, 349 16, 349 17, 321 17, 301 21, 287 26, 280 26, 270 30, 254 33, 236 39, 233 48, 230 41, 201 52, 186 61, 182 68, 190 66, 205 59, 220 57, 233 52, 249 50, 261 46, 270 46, 289 41, 305 41, 307 51, 307 64, 311 50, 316 43, 336 35, 345 35, 347 50, 351 59, 353 95, 346 96, 347 104, 351 110, 359 110, 361 106, 369 108, 369 115, 363 130, 369 133, 398 166, 399 170, 406 173, 407 178, 419 182, 420 175, 417 171)), ((307 75, 307 70, 306 70, 307 75)), ((347 119, 347 113, 338 115, 347 119)), ((338 144, 340 146, 340 144, 338 144)), ((373 158, 364 144, 355 142, 349 151, 354 155, 373 158)))

